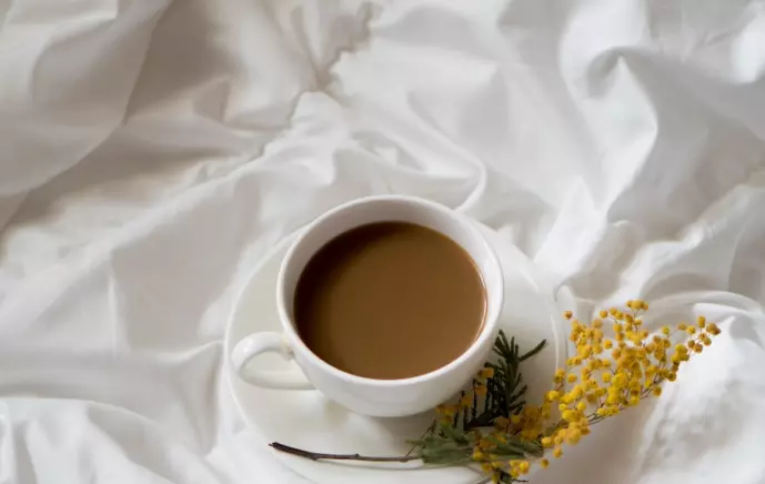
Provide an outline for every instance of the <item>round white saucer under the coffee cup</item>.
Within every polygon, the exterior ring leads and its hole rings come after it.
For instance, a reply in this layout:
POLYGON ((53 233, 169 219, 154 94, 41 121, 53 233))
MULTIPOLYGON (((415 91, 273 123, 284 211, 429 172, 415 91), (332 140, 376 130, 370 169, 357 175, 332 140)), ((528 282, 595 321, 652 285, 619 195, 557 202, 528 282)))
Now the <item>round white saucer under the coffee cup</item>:
MULTIPOLYGON (((484 231, 494 245, 505 272, 505 307, 501 326, 515 336, 521 351, 541 340, 547 346, 523 366, 527 397, 538 401, 550 389, 555 367, 565 361, 566 344, 562 319, 552 290, 543 288, 534 265, 510 242, 484 231)), ((256 331, 279 330, 275 282, 279 266, 293 238, 276 245, 252 271, 241 292, 225 334, 227 375, 231 392, 248 426, 263 445, 271 442, 315 452, 402 455, 417 438, 433 415, 407 419, 371 419, 356 415, 328 401, 318 391, 262 390, 242 382, 231 370, 229 355, 234 344, 256 331)), ((279 356, 263 355, 253 361, 260 369, 286 370, 279 356)), ((293 471, 316 484, 474 484, 482 481, 475 471, 464 467, 423 467, 406 464, 356 462, 314 462, 273 451, 293 471)))

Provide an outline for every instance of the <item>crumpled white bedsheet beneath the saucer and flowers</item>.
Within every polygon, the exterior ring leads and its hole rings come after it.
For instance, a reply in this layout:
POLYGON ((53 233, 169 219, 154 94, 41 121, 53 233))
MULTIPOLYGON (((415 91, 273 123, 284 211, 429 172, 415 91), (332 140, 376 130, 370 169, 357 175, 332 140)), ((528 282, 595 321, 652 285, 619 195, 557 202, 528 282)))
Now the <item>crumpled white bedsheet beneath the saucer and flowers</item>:
POLYGON ((534 484, 765 482, 765 4, 0 0, 0 483, 305 483, 223 379, 233 289, 360 195, 724 334, 534 484))

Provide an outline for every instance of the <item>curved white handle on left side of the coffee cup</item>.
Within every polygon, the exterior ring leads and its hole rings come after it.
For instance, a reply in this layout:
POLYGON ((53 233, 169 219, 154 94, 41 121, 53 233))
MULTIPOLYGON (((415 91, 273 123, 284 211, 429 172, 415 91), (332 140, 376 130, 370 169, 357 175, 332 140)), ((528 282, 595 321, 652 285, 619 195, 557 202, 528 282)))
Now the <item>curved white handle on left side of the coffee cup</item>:
POLYGON ((274 331, 253 333, 236 343, 231 352, 231 364, 243 381, 262 389, 312 390, 313 385, 300 370, 260 371, 249 370, 248 363, 258 355, 278 353, 284 360, 292 360, 292 350, 284 336, 274 331))

